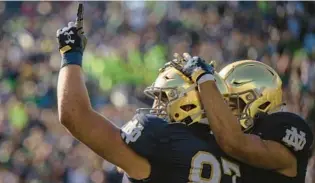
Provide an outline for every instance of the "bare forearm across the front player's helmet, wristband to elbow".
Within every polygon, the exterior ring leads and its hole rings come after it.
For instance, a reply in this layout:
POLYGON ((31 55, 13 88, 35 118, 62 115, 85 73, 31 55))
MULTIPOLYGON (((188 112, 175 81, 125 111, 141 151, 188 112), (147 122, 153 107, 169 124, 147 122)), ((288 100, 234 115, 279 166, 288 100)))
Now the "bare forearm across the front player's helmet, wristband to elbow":
POLYGON ((199 91, 210 128, 221 148, 233 148, 241 143, 244 134, 215 82, 207 81, 200 84, 199 91))

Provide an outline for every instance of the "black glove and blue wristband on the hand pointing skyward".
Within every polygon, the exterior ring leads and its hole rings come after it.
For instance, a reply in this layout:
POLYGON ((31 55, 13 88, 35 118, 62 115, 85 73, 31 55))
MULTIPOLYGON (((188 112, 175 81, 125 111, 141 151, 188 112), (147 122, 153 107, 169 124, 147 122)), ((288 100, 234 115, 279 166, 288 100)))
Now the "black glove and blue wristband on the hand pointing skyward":
POLYGON ((83 32, 83 5, 79 4, 76 22, 57 30, 61 67, 69 64, 82 65, 82 55, 87 39, 83 32))

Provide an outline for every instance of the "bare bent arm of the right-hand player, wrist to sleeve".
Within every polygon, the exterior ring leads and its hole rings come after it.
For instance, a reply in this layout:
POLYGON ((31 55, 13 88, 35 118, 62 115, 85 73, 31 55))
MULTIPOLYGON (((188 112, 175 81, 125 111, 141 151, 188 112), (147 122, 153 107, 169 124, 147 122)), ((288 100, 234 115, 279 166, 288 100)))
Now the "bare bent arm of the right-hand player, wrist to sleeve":
POLYGON ((297 162, 294 155, 280 143, 243 133, 214 81, 201 83, 199 91, 210 128, 225 153, 254 167, 296 176, 297 162))

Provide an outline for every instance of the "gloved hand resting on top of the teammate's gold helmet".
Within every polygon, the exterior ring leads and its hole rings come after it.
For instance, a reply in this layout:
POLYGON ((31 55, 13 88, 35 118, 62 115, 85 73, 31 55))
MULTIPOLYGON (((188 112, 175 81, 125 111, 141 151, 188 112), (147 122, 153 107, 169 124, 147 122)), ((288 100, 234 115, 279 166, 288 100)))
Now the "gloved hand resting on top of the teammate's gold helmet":
POLYGON ((199 79, 207 75, 207 80, 214 80, 214 66, 208 64, 198 56, 191 57, 188 53, 183 54, 186 63, 182 68, 182 73, 189 77, 193 82, 199 84, 199 79))

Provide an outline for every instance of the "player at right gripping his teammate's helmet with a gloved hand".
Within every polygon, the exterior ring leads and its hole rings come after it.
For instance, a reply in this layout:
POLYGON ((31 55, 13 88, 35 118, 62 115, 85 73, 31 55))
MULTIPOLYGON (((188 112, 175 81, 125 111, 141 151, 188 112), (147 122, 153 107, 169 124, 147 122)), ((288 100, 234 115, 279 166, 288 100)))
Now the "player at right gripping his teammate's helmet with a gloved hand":
POLYGON ((242 167, 243 181, 304 182, 313 136, 301 117, 279 111, 281 79, 274 69, 251 60, 227 65, 219 72, 229 89, 222 97, 213 67, 200 57, 184 56, 183 73, 199 87, 218 144, 248 165, 242 167))

